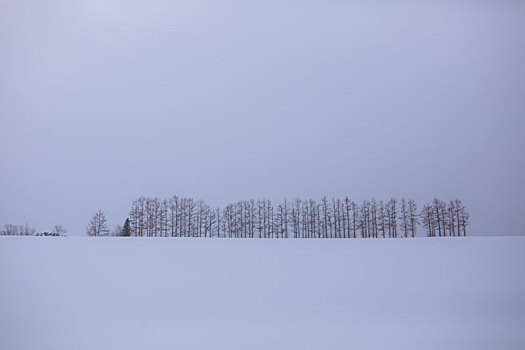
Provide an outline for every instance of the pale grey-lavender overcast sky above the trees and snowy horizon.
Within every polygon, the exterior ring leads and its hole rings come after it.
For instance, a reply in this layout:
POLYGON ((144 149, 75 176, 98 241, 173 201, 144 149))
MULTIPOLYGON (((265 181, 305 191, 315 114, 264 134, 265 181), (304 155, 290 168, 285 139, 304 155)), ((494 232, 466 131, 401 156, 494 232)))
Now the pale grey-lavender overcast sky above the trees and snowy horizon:
POLYGON ((460 198, 525 233, 523 1, 2 1, 0 224, 460 198))

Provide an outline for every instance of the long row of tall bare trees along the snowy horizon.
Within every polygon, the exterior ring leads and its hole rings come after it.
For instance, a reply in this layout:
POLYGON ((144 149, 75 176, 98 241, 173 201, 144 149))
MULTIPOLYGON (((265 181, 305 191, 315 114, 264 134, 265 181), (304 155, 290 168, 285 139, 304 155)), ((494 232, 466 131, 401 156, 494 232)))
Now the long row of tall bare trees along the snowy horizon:
MULTIPOLYGON (((460 200, 435 199, 419 212, 414 200, 322 198, 238 201, 224 209, 202 200, 140 197, 130 211, 131 235, 139 237, 228 238, 397 238, 415 237, 422 225, 429 237, 466 235, 469 215, 460 200)), ((95 234, 96 235, 96 234, 95 234)))

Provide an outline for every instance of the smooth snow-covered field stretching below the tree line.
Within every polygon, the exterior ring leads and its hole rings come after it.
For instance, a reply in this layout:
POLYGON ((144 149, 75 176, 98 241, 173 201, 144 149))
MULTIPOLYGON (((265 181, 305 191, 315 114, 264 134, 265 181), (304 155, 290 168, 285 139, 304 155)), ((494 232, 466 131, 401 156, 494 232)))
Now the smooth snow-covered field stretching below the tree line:
POLYGON ((525 349, 525 237, 0 237, 0 349, 525 349))

